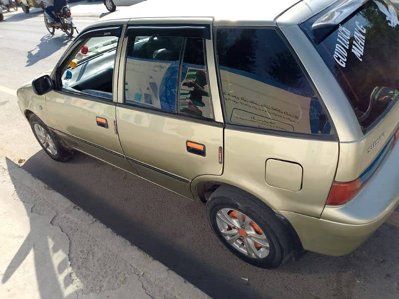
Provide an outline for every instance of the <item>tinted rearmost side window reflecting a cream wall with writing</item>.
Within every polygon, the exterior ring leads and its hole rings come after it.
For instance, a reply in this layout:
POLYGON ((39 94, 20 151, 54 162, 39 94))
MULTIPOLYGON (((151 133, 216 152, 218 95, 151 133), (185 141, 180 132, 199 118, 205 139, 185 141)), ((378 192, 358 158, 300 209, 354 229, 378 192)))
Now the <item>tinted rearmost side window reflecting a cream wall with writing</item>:
POLYGON ((226 122, 332 134, 317 94, 276 30, 220 28, 216 38, 226 122))

